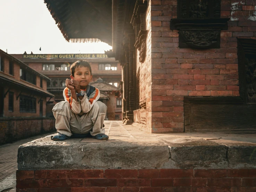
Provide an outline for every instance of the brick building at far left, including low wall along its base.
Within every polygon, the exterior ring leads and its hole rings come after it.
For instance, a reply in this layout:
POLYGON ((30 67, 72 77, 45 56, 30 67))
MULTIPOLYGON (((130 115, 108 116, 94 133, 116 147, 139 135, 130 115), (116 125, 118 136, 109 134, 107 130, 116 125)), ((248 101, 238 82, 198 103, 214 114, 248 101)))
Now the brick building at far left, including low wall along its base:
POLYGON ((50 79, 0 50, 0 143, 54 129, 46 118, 50 79))

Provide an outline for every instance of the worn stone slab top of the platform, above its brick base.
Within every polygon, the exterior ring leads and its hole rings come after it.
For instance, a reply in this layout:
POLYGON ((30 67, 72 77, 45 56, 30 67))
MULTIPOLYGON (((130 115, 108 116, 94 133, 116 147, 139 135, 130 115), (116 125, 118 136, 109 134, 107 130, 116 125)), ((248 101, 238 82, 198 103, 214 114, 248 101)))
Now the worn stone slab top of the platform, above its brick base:
POLYGON ((105 121, 108 140, 51 136, 18 149, 18 169, 256 168, 256 134, 146 133, 105 121))

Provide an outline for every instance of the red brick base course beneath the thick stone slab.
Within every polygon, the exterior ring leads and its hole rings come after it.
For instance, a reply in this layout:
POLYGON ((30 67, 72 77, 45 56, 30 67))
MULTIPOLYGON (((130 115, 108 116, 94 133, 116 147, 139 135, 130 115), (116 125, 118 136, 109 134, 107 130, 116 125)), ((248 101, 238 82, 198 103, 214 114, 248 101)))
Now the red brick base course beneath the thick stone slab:
POLYGON ((16 172, 17 192, 254 192, 255 169, 84 169, 16 172))

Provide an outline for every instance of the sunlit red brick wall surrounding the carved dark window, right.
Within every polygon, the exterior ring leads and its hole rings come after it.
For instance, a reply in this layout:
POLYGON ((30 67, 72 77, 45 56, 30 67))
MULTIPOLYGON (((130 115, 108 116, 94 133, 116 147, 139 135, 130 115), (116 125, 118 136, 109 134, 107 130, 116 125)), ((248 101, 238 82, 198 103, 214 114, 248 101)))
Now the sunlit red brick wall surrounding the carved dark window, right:
MULTIPOLYGON (((179 49, 177 0, 151 1, 151 132, 184 131, 184 96, 239 96, 237 37, 256 38, 255 0, 222 0, 220 49, 179 49)), ((149 123, 147 123, 150 126, 149 123)))

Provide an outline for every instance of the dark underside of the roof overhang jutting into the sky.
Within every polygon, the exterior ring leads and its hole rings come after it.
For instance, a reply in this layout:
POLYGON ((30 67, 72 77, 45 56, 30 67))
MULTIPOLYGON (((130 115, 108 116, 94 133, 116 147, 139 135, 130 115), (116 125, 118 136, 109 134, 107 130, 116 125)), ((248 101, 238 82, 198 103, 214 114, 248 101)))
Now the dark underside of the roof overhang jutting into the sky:
POLYGON ((111 0, 44 0, 64 38, 112 45, 111 0))

